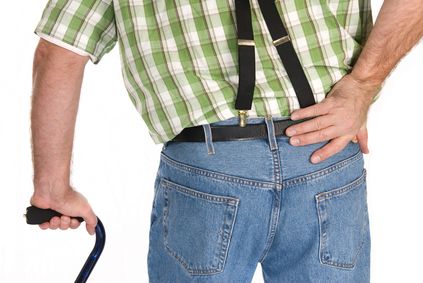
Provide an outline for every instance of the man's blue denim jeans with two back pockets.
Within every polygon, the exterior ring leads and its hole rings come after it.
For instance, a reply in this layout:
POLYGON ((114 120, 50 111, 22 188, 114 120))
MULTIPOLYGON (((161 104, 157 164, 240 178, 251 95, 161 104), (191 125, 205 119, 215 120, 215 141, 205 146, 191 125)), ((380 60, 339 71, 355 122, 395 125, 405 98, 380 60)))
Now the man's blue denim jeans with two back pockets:
MULTIPOLYGON (((313 164, 327 142, 267 138, 163 145, 154 185, 150 282, 370 282, 366 169, 358 144, 313 164)), ((238 118, 212 123, 237 124, 238 118)))

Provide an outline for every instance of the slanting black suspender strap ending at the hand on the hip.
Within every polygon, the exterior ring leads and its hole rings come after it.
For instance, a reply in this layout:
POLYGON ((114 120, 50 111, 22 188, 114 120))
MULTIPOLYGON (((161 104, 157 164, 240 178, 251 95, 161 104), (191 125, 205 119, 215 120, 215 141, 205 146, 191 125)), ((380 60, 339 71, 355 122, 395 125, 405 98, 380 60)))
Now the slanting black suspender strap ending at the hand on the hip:
MULTIPOLYGON (((246 0, 248 2, 248 0, 246 0)), ((279 57, 285 67, 292 86, 297 94, 301 108, 315 104, 313 91, 301 66, 300 60, 295 53, 294 46, 289 38, 278 10, 273 0, 258 0, 267 28, 273 39, 279 57)))

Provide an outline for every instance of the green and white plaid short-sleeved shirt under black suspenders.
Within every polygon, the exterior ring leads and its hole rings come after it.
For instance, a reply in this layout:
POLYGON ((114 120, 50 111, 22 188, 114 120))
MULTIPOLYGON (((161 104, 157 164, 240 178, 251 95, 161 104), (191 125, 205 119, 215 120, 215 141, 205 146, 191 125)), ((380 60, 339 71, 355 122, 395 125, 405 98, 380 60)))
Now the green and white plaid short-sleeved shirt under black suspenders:
MULTIPOLYGON (((249 117, 289 116, 298 100, 250 0, 256 86, 249 117)), ((370 0, 276 0, 316 102, 347 74, 372 27, 370 0)), ((156 144, 237 116, 234 0, 50 0, 35 32, 97 63, 118 41, 132 103, 156 144)))

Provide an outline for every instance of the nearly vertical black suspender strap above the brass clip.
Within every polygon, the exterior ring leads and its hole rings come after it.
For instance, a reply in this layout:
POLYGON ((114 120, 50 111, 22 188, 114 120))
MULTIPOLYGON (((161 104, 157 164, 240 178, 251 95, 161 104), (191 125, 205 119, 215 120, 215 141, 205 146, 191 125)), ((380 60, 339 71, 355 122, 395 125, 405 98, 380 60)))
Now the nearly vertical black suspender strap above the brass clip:
POLYGON ((247 110, 251 109, 256 81, 254 34, 249 0, 235 0, 235 13, 238 33, 239 68, 239 85, 235 109, 247 110))

